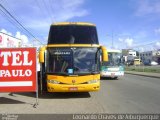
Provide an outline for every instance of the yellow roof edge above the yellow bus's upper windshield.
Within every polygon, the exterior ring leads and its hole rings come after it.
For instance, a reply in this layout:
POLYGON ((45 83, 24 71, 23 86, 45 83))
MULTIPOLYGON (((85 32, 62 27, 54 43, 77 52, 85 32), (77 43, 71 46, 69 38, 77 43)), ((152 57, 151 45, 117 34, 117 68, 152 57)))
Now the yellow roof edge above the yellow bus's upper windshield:
POLYGON ((95 26, 95 24, 89 22, 57 22, 53 23, 52 25, 82 25, 82 26, 95 26))

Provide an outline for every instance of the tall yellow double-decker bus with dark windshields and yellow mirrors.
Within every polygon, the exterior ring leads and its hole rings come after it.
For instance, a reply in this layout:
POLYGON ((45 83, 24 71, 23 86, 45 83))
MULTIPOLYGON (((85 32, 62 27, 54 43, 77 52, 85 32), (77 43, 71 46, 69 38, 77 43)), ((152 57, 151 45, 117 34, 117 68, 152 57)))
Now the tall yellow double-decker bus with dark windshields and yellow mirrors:
POLYGON ((100 89, 100 60, 108 61, 99 45, 96 26, 60 22, 50 26, 48 44, 40 49, 41 90, 89 92, 100 89))

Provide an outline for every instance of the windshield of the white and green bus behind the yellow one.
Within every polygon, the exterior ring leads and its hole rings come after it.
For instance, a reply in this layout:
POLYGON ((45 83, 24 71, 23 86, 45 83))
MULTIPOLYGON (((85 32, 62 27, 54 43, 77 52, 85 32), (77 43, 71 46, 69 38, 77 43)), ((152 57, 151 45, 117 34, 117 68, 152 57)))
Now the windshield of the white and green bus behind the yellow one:
POLYGON ((103 66, 120 66, 122 65, 122 54, 116 52, 108 52, 108 62, 104 62, 103 66))

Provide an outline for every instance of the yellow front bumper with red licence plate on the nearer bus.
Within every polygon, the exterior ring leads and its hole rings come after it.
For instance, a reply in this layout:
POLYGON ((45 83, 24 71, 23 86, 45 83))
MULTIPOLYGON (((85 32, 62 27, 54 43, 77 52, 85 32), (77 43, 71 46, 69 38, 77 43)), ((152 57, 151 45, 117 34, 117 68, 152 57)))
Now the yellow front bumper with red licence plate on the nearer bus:
POLYGON ((89 92, 98 91, 100 89, 100 81, 93 84, 52 84, 47 83, 48 92, 89 92))

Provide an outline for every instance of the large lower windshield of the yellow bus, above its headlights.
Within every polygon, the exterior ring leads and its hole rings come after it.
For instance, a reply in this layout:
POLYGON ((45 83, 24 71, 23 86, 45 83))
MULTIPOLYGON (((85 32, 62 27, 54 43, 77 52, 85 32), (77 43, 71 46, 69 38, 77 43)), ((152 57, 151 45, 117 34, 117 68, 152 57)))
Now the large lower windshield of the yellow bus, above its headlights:
POLYGON ((91 74, 100 71, 98 48, 48 48, 47 73, 91 74))

